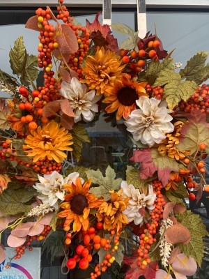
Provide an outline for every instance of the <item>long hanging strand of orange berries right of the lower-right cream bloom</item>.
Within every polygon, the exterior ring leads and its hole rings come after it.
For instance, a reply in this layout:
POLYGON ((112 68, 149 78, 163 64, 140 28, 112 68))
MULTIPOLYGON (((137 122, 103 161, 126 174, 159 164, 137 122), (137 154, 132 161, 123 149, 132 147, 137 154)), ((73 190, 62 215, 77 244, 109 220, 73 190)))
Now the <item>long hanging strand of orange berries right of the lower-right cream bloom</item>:
POLYGON ((161 193, 162 188, 163 186, 160 181, 153 181, 153 191, 156 194, 154 203, 155 209, 150 213, 150 221, 146 224, 147 229, 144 229, 144 234, 139 236, 139 249, 137 250, 139 254, 137 265, 142 270, 146 269, 147 264, 150 263, 148 251, 151 245, 156 241, 153 236, 157 232, 157 227, 159 227, 160 220, 162 219, 164 204, 166 204, 161 193))

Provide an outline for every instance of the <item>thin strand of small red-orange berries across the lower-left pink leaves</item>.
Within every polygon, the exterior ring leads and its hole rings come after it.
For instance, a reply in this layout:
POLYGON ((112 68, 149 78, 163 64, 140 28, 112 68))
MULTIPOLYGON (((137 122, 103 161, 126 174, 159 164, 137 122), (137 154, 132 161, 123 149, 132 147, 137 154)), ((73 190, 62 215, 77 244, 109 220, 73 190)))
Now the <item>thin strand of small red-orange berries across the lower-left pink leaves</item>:
POLYGON ((13 259, 20 259, 22 255, 24 255, 25 250, 29 249, 29 251, 33 250, 33 248, 31 247, 31 244, 33 241, 42 241, 44 239, 46 239, 47 235, 49 234, 49 232, 51 231, 51 227, 45 225, 45 228, 43 229, 43 231, 38 234, 37 236, 27 236, 26 237, 26 241, 24 242, 24 244, 22 244, 22 246, 19 246, 15 249, 15 256, 13 257, 13 259))

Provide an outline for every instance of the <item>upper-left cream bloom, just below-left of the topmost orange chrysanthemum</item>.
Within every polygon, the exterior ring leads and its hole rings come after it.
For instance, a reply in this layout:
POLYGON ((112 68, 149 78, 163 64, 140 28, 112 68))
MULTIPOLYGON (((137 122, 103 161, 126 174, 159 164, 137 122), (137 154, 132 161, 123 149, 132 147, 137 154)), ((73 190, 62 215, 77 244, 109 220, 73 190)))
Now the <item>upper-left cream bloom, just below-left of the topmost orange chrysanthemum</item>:
POLYGON ((84 121, 92 121, 95 112, 98 112, 96 103, 102 96, 96 96, 95 90, 86 91, 86 84, 81 84, 76 77, 72 77, 70 84, 68 82, 61 83, 60 93, 70 101, 70 106, 75 113, 75 122, 82 120, 82 118, 84 121))

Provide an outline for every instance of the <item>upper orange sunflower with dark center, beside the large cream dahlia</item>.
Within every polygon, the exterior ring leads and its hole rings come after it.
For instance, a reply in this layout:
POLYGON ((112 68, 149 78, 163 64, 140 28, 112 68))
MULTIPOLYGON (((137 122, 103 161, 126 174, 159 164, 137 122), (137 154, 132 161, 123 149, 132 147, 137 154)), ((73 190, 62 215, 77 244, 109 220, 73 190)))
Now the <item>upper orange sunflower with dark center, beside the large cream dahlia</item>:
POLYGON ((134 82, 129 80, 125 75, 121 78, 121 82, 116 80, 113 86, 108 86, 105 90, 105 98, 103 103, 111 104, 105 108, 106 112, 111 113, 117 111, 116 119, 119 120, 123 116, 127 116, 136 110, 136 100, 140 96, 148 96, 144 87, 147 82, 134 82))

